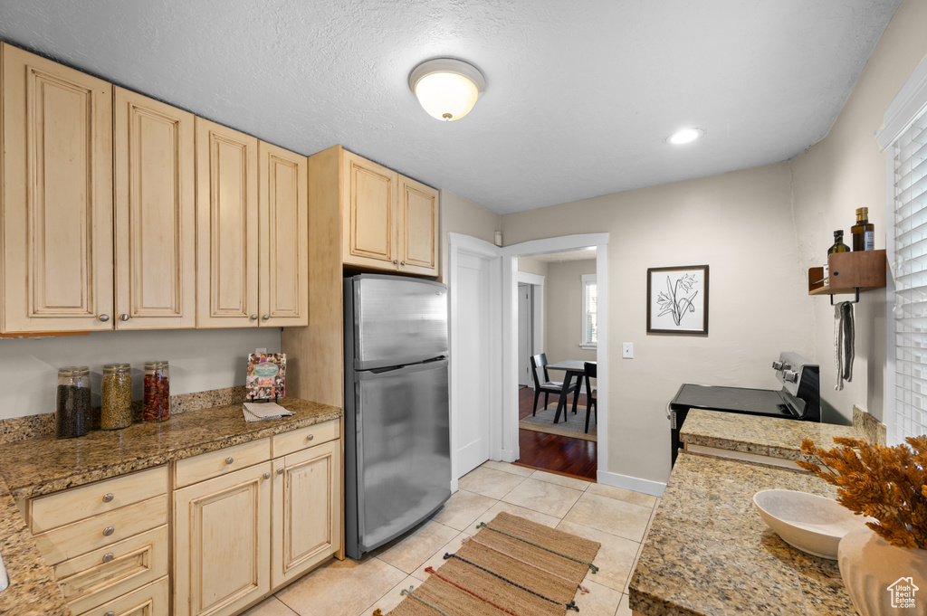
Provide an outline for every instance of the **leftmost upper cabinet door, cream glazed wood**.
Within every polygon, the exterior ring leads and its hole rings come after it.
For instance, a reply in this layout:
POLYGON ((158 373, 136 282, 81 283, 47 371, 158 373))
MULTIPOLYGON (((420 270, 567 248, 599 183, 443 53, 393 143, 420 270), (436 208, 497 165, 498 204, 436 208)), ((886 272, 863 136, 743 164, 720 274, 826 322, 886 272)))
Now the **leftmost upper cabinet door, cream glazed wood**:
POLYGON ((2 55, 2 330, 110 330, 112 86, 2 55))

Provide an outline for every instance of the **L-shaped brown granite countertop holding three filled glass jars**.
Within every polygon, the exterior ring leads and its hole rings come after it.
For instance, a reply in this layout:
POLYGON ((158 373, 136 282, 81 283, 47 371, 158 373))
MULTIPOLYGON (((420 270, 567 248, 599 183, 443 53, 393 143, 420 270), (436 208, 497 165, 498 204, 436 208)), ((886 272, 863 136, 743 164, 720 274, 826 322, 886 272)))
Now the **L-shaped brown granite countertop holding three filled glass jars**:
POLYGON ((71 616, 15 499, 140 471, 342 415, 341 409, 316 402, 284 398, 279 403, 296 414, 248 423, 238 403, 80 438, 46 436, 0 445, 0 553, 10 579, 9 588, 0 593, 0 615, 71 616))

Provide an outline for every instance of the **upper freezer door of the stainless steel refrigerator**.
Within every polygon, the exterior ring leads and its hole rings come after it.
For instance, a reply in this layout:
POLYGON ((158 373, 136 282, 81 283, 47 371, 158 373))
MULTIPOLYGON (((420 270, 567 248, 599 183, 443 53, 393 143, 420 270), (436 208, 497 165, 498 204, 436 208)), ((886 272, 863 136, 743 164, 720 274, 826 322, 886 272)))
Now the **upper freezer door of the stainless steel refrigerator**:
POLYGON ((350 283, 346 301, 354 308, 354 370, 448 356, 448 291, 443 284, 370 274, 350 283))

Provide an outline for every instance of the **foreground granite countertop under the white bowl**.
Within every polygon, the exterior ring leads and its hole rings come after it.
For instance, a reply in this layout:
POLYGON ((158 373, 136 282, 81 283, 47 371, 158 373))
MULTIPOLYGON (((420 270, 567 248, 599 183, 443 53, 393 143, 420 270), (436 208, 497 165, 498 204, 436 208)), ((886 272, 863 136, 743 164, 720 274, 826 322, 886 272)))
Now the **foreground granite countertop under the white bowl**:
POLYGON ((652 616, 856 616, 836 560, 783 542, 756 512, 760 490, 825 497, 803 471, 679 453, 629 584, 629 606, 652 616))

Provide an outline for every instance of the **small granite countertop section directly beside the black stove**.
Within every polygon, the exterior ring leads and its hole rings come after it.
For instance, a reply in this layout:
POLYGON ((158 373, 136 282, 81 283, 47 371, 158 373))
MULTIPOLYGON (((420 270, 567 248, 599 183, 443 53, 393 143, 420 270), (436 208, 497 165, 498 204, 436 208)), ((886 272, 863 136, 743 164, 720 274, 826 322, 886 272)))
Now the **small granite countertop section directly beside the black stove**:
POLYGON ((802 439, 810 438, 815 445, 832 447, 834 436, 862 438, 853 426, 705 409, 690 410, 679 431, 679 440, 689 445, 782 459, 800 459, 802 439))

